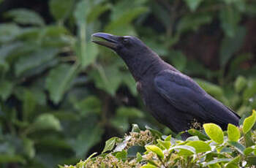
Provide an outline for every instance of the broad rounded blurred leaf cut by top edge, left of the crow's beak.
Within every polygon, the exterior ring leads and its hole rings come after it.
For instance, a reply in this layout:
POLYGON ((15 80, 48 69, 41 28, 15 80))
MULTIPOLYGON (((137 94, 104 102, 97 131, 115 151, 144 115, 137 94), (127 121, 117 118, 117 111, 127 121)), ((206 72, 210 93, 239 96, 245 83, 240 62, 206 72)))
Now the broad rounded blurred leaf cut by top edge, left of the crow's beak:
POLYGON ((50 0, 50 12, 56 20, 67 18, 73 6, 73 0, 50 0))

